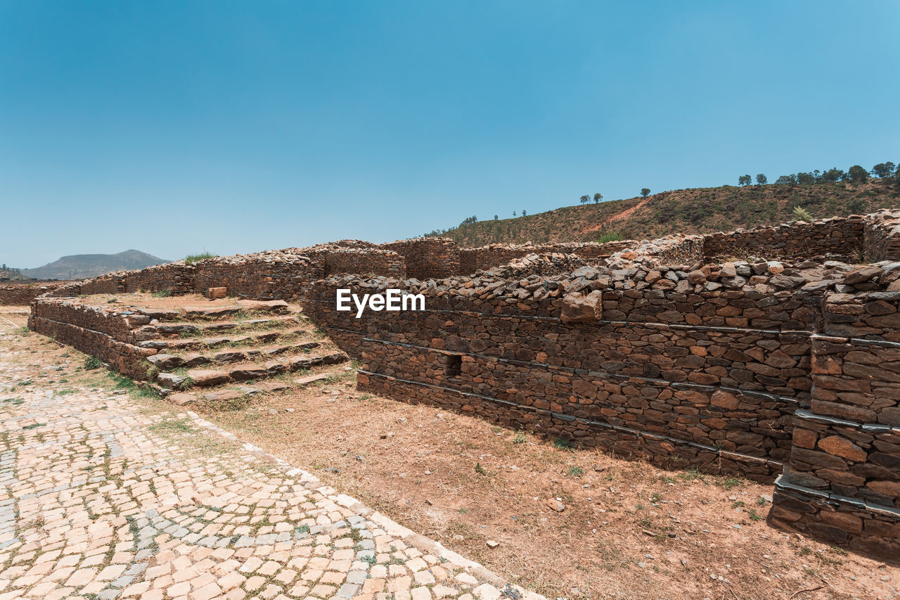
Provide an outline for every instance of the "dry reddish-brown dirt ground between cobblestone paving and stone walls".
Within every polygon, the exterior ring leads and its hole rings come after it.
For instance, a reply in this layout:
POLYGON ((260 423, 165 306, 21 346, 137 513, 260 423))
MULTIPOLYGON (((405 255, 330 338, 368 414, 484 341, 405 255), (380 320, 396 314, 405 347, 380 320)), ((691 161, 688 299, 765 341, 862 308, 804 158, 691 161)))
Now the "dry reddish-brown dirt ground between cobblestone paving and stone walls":
MULTIPOLYGON (((26 315, 0 307, 4 323, 23 325, 26 315)), ((75 350, 31 332, 16 340, 33 385, 112 386, 85 372, 75 350)), ((559 447, 361 394, 352 371, 238 410, 194 410, 548 598, 898 596, 900 569, 770 527, 771 486, 559 447)))

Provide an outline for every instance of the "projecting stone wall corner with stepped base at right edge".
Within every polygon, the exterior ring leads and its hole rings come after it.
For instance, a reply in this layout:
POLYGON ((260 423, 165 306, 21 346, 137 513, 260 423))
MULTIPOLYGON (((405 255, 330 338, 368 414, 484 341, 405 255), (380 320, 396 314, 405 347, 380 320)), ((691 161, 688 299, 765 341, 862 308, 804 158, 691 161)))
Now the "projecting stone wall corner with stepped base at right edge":
POLYGON ((897 263, 855 268, 824 296, 811 338, 811 401, 797 411, 773 523, 900 557, 897 263))

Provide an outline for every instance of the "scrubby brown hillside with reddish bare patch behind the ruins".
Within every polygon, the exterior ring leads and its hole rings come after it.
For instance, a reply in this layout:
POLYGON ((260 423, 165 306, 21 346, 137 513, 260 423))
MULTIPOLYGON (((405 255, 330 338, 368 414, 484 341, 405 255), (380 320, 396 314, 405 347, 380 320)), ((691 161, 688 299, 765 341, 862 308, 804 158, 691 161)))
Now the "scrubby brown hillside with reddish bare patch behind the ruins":
POLYGON ((464 224, 442 235, 463 246, 494 242, 653 239, 669 233, 707 233, 792 221, 795 206, 815 218, 869 213, 900 206, 900 188, 887 181, 795 186, 722 186, 673 190, 646 198, 565 206, 516 219, 464 224))

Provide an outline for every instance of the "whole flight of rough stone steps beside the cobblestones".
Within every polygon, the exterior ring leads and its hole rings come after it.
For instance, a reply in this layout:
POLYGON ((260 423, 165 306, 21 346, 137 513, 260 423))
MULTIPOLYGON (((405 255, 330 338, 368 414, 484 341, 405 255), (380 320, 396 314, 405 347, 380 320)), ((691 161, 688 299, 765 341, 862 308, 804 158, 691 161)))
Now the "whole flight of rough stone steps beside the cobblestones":
POLYGON ((349 368, 302 309, 282 300, 136 312, 150 320, 134 332, 137 345, 157 350, 151 385, 178 405, 282 391, 349 368))

